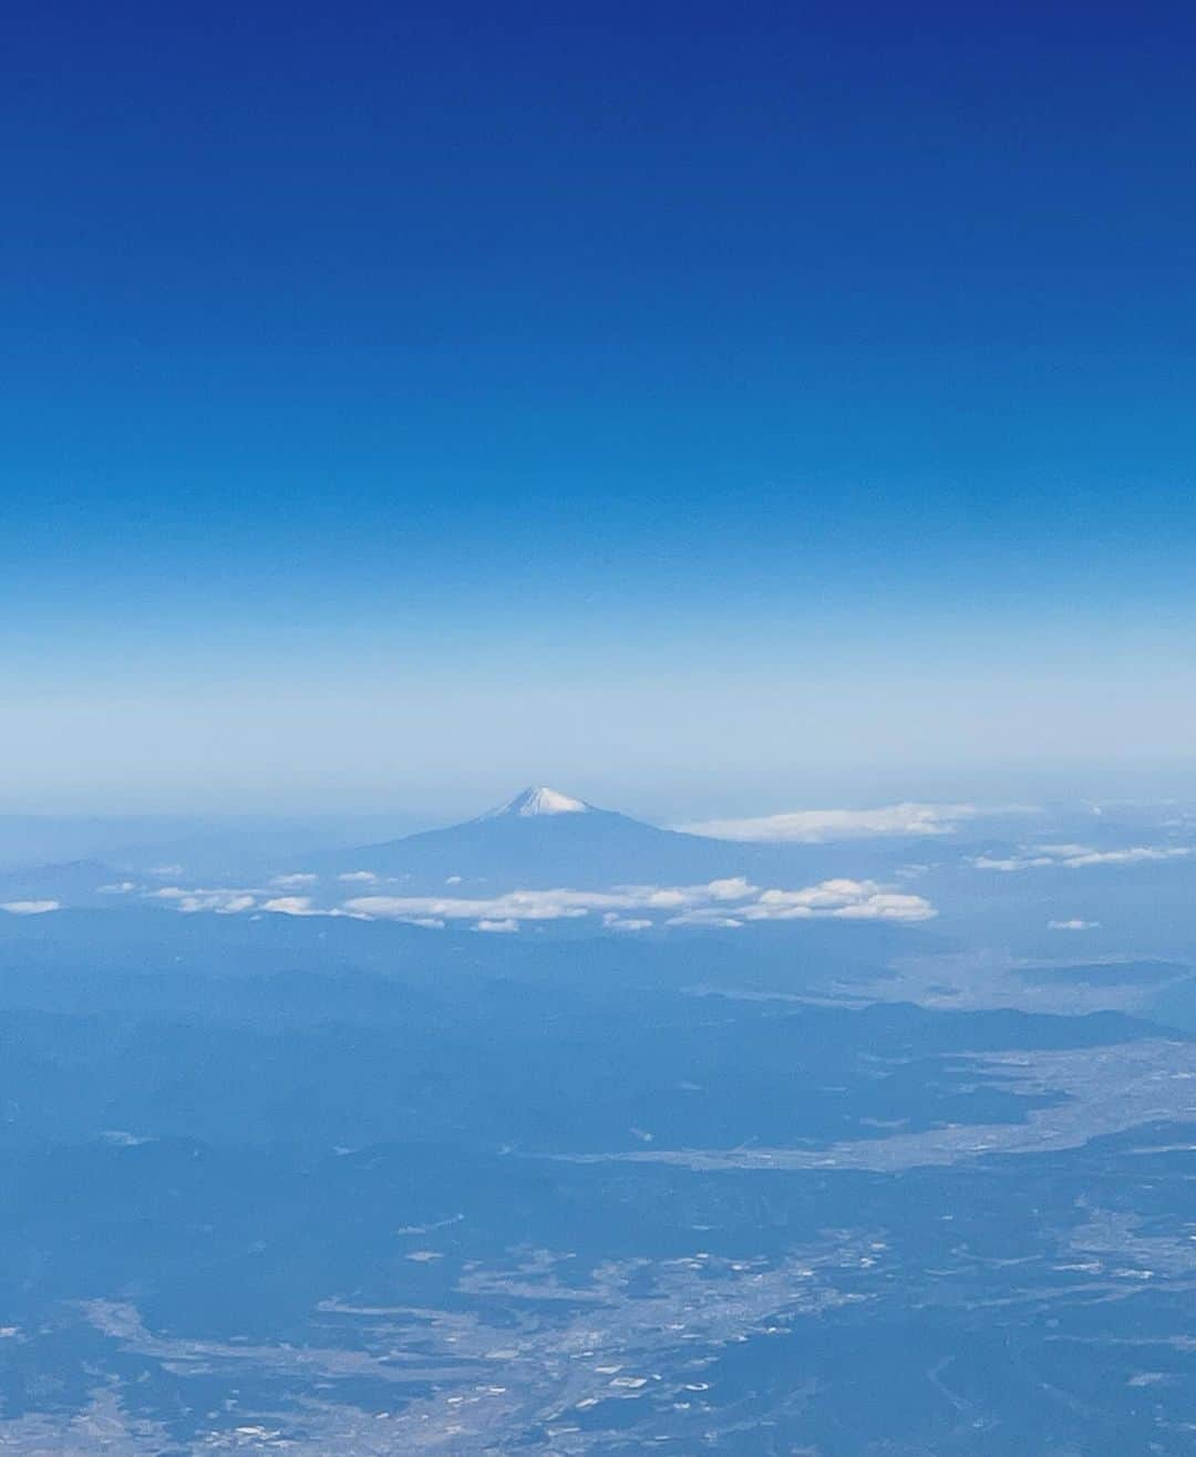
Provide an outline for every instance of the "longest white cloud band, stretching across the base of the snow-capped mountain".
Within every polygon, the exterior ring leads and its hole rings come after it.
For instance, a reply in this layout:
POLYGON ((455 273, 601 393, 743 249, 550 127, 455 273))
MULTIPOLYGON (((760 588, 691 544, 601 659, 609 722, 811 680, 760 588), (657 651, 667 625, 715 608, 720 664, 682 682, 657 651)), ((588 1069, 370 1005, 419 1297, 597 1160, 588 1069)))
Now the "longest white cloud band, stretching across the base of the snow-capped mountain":
POLYGON ((357 915, 428 922, 473 921, 503 930, 526 921, 577 919, 602 915, 619 931, 642 931, 661 912, 669 925, 736 927, 747 921, 797 921, 813 916, 841 919, 928 921, 934 906, 922 896, 903 895, 873 880, 825 880, 801 890, 760 890, 743 877, 704 886, 618 886, 613 890, 513 890, 507 895, 358 896, 345 902, 357 915), (628 915, 628 912, 640 912, 628 915))

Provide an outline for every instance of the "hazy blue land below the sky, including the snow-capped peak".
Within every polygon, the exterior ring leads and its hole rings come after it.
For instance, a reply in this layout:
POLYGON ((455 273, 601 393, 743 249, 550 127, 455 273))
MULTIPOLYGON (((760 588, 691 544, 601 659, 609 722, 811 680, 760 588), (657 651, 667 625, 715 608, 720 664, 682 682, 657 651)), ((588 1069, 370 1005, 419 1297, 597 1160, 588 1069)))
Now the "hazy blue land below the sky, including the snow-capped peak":
POLYGON ((1193 822, 892 819, 7 873, 0 1447, 1183 1457, 1193 822))

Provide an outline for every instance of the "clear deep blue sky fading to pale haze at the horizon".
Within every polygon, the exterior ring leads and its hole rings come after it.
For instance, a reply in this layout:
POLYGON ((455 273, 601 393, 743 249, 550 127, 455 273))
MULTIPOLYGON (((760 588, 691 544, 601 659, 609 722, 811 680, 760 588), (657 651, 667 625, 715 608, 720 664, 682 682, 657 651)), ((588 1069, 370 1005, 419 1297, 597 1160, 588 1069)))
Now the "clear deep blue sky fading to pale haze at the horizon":
POLYGON ((1190 758, 1186 7, 172 9, 7 22, 0 807, 1190 758))

